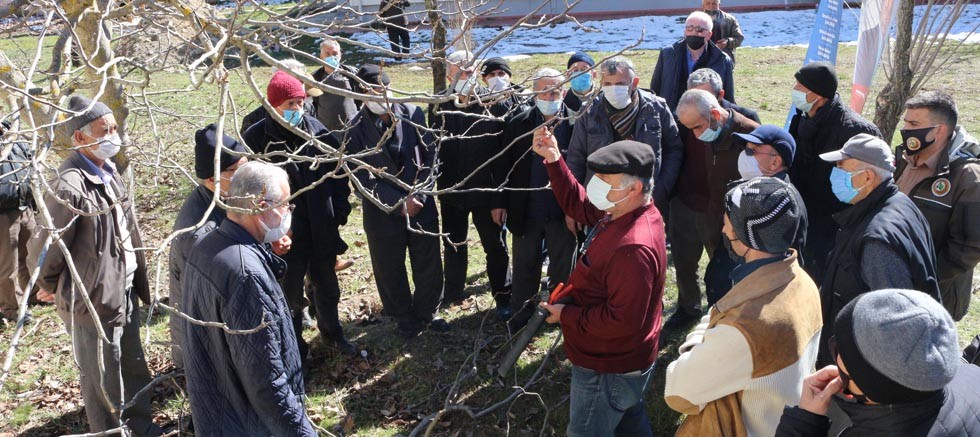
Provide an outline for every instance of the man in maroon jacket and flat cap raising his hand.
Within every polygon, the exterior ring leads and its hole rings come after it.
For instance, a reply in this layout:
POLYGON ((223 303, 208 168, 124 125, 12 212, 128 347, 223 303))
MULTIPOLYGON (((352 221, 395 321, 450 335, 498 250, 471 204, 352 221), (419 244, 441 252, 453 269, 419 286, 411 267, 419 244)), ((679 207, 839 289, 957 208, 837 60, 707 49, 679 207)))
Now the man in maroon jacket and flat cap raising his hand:
POLYGON ((667 248, 654 206, 653 151, 619 141, 589 155, 595 172, 576 182, 547 128, 534 152, 566 215, 592 227, 560 302, 542 303, 560 323, 572 362, 569 436, 652 436, 643 391, 660 337, 667 248))

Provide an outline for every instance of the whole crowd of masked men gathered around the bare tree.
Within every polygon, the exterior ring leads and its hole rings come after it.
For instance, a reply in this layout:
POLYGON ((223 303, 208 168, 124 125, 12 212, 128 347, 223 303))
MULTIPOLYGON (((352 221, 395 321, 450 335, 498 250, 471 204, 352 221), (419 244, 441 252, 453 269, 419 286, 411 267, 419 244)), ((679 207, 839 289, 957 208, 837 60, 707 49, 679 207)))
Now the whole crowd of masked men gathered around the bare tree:
MULTIPOLYGON (((980 368, 955 328, 980 261, 980 144, 953 97, 909 99, 896 150, 814 62, 783 90, 789 129, 761 124, 735 102, 743 36, 719 4, 687 17, 648 89, 625 56, 576 52, 525 89, 506 60, 460 50, 442 102, 421 108, 390 100, 385 69, 344 64, 327 37, 312 74, 275 71, 241 141, 197 131, 199 183, 169 264, 194 431, 315 435, 304 329, 362 349, 338 314, 340 228, 363 226, 384 315, 411 339, 453 329, 439 313, 469 296, 472 223, 494 316, 516 332, 540 307, 561 327, 568 435, 652 435, 643 399, 661 340, 692 325, 666 368, 678 435, 980 435, 980 368), (352 193, 361 223, 348 223, 352 193), (678 301, 663 317, 671 262, 678 301)), ((106 105, 75 95, 67 108, 53 227, 35 224, 29 150, 4 161, 0 310, 13 320, 23 299, 53 296, 91 430, 157 435, 140 391, 145 246, 112 162, 122 140, 106 105), (60 243, 41 254, 49 235, 60 243)))

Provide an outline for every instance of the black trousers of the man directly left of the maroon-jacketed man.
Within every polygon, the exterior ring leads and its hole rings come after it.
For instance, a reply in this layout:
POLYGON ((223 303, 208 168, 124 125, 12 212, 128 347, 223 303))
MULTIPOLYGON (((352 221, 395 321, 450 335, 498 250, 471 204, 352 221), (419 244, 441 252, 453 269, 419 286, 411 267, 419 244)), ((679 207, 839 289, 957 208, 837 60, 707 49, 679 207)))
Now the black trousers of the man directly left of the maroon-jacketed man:
POLYGON ((576 235, 569 232, 565 219, 549 222, 528 221, 524 236, 516 234, 514 244, 514 284, 510 298, 510 308, 514 311, 512 320, 523 324, 534 313, 541 287, 541 263, 544 254, 541 243, 548 251, 548 290, 560 282, 568 280, 575 259, 576 235))

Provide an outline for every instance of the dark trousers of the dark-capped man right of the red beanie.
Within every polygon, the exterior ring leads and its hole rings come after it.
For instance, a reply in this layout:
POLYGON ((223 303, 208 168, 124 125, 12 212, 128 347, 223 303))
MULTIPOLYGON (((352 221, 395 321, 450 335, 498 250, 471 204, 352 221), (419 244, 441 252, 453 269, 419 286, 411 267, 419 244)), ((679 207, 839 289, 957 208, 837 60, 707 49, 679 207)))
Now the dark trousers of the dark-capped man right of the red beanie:
MULTIPOLYGON (((364 214, 385 213, 373 205, 365 205, 364 214)), ((426 224, 423 229, 437 233, 439 223, 426 224)), ((371 253, 371 268, 374 269, 374 281, 378 286, 385 315, 394 317, 399 322, 431 322, 442 302, 439 237, 411 232, 405 229, 404 223, 401 228, 395 227, 395 231, 364 227, 368 251, 371 253), (406 251, 412 265, 414 294, 405 268, 406 251)))

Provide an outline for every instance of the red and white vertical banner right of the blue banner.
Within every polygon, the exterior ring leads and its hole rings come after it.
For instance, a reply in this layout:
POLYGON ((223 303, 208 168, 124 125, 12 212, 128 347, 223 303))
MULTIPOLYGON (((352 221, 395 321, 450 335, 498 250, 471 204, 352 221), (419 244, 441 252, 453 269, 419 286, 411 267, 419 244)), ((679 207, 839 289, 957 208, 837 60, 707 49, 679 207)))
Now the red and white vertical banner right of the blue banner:
POLYGON ((881 53, 888 41, 892 18, 898 13, 898 0, 864 0, 858 27, 858 52, 851 86, 851 109, 858 114, 868 100, 881 53))

